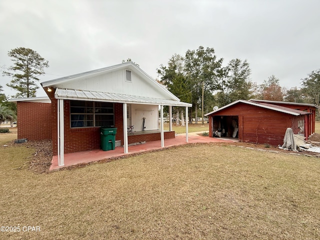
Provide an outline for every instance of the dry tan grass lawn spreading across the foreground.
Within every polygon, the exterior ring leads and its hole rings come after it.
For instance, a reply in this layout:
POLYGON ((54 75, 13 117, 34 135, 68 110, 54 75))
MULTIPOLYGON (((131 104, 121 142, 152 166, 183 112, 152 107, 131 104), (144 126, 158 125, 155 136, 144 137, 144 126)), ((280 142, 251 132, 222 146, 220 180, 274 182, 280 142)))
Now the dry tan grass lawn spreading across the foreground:
POLYGON ((320 238, 316 157, 194 144, 35 174, 3 134, 1 226, 40 231, 0 239, 320 238))

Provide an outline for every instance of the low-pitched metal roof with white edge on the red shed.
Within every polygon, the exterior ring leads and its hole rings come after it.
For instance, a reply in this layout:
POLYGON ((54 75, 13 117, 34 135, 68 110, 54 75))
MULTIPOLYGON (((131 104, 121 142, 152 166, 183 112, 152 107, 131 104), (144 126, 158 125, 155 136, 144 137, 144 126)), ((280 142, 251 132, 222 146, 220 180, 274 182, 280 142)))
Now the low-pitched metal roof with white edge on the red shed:
POLYGON ((249 104, 249 105, 253 105, 253 106, 258 106, 258 107, 262 107, 262 108, 266 108, 266 109, 270 109, 270 110, 274 110, 274 111, 279 111, 279 112, 283 112, 283 113, 287 113, 290 115, 301 115, 301 114, 310 114, 310 112, 306 112, 306 111, 300 111, 300 110, 296 110, 296 109, 292 109, 289 107, 284 107, 284 106, 278 106, 278 105, 274 105, 274 104, 267 104, 267 103, 258 103, 258 102, 253 102, 253 101, 246 101, 246 100, 237 100, 237 101, 233 101, 225 106, 222 106, 220 108, 218 108, 217 110, 211 111, 209 113, 206 113, 205 116, 210 115, 212 113, 218 112, 222 109, 225 109, 227 107, 230 107, 232 105, 235 105, 239 102, 245 103, 245 104, 249 104))

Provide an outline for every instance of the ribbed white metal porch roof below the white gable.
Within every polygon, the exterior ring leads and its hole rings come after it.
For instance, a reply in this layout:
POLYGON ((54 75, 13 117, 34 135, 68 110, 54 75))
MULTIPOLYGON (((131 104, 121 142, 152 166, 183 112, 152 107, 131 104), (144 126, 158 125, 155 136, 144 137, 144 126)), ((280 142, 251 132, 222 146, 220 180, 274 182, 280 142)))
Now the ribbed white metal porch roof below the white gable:
POLYGON ((160 99, 144 96, 135 96, 127 94, 118 94, 102 91, 88 91, 80 89, 56 88, 54 97, 57 99, 70 100, 91 100, 91 101, 107 101, 119 103, 135 103, 150 105, 171 105, 171 106, 192 106, 192 104, 177 100, 160 99))

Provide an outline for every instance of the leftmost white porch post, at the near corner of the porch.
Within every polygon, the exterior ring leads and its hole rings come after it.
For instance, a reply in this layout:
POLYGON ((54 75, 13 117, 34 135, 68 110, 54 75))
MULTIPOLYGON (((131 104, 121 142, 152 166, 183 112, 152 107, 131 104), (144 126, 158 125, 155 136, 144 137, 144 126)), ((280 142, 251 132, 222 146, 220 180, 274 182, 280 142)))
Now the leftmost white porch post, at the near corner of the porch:
POLYGON ((58 165, 64 165, 64 111, 63 111, 63 99, 58 99, 57 105, 57 134, 58 134, 58 165))

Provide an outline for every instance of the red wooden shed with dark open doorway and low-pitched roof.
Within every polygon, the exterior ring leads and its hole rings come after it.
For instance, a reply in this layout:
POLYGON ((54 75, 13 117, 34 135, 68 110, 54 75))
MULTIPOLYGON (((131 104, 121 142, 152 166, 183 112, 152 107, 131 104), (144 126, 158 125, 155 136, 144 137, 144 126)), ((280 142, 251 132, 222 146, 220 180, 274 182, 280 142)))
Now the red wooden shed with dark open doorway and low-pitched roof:
POLYGON ((294 134, 306 138, 314 132, 315 110, 318 106, 307 103, 289 103, 262 100, 237 100, 211 111, 209 136, 237 137, 239 141, 283 143, 287 127, 294 134))

